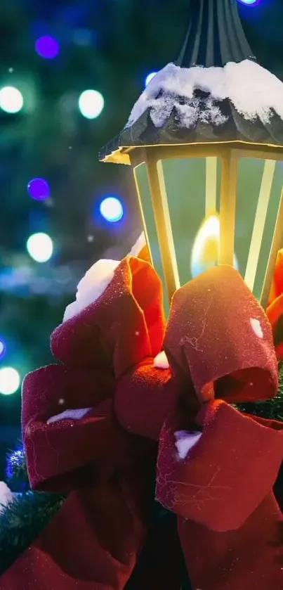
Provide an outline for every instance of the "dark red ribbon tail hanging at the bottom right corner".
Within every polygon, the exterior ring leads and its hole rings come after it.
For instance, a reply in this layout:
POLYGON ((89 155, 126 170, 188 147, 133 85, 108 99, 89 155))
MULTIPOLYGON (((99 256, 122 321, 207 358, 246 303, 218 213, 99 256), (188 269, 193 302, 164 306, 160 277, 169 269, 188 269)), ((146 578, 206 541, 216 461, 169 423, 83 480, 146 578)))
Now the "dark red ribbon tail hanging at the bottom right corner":
POLYGON ((272 492, 237 531, 218 533, 179 517, 193 589, 282 590, 282 531, 283 516, 272 492))

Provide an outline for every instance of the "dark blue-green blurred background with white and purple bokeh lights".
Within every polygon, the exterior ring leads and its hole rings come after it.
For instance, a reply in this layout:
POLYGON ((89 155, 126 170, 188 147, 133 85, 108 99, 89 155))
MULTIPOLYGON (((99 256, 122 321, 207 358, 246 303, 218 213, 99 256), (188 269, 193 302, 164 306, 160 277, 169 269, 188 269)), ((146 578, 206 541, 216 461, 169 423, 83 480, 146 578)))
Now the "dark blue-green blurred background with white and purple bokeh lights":
MULTIPOLYGON (((131 169, 98 152, 147 75, 178 56, 187 11, 188 0, 1 0, 0 479, 22 378, 51 361, 49 335, 88 267, 140 234, 131 169)), ((282 0, 242 0, 239 13, 282 79, 282 0)))

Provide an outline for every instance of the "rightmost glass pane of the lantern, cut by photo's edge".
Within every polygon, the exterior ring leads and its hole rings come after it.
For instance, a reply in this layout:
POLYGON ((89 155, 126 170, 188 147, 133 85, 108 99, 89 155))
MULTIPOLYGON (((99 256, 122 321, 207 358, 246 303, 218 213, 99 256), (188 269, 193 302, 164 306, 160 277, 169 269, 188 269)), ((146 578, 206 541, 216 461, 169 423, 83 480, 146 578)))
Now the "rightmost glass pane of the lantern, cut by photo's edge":
POLYGON ((282 186, 283 162, 239 159, 235 254, 239 272, 258 300, 268 266, 282 186))

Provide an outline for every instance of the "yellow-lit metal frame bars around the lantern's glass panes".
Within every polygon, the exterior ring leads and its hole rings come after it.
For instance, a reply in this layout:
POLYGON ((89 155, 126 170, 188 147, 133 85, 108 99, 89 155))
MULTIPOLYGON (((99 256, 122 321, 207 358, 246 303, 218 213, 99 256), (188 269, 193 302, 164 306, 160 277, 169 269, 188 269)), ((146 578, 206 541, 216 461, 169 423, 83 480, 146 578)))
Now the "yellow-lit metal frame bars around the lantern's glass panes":
MULTIPOLYGON (((136 191, 138 194, 138 202, 140 206, 140 213, 143 219, 143 226, 145 229, 145 237, 148 248, 150 250, 150 240, 147 234, 145 223, 145 214, 143 207, 143 196, 140 194, 138 186, 138 179, 136 177, 136 168, 140 164, 145 164, 147 167, 147 177, 150 187, 150 195, 152 201, 152 210, 154 214, 154 223, 157 230, 157 238, 159 241, 160 254, 162 258, 162 267, 164 271, 164 280, 166 283, 166 291, 169 297, 169 302, 173 293, 180 286, 178 277, 178 264, 173 243, 173 235, 171 231, 171 220, 166 195, 166 184, 164 181, 164 174, 162 171, 162 160, 178 159, 178 158, 220 158, 222 163, 221 172, 221 199, 220 199, 220 243, 218 264, 229 264, 233 266, 234 260, 234 243, 235 243, 235 221, 236 221, 236 203, 237 203, 237 165, 240 158, 256 158, 258 160, 265 160, 265 162, 283 161, 283 146, 267 145, 261 143, 249 143, 245 141, 221 141, 215 143, 190 143, 190 144, 171 144, 168 146, 145 146, 124 148, 121 152, 121 159, 128 160, 133 167, 133 177, 136 184, 136 191)), ((265 223, 265 216, 261 214, 261 200, 258 198, 256 207, 256 217, 254 220, 254 238, 257 238, 258 233, 263 233, 265 223)), ((253 240, 253 238, 252 238, 253 240)), ((256 243, 254 239, 253 243, 256 243)), ((251 244, 250 244, 251 247, 251 244)), ((263 288, 261 290, 260 302, 263 307, 268 302, 270 293, 270 286, 272 281, 272 274, 275 268, 277 252, 283 247, 283 190, 279 200, 279 207, 277 210, 277 219, 275 222, 275 229, 273 232, 272 244, 270 254, 268 257, 268 265, 265 270, 265 278, 263 281, 263 288)), ((256 248, 259 253, 258 247, 256 248)), ((254 262, 258 262, 258 256, 254 255, 250 248, 249 257, 254 258, 254 262)), ((253 288, 254 279, 246 276, 244 280, 249 288, 253 288)))

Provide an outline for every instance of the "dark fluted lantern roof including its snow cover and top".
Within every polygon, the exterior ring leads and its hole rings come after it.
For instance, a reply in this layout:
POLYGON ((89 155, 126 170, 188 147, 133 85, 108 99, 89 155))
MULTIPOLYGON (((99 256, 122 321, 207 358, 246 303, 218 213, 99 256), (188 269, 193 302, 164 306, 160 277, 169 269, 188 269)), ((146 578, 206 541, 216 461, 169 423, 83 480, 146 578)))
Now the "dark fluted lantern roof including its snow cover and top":
POLYGON ((246 141, 283 145, 283 83, 256 63, 235 0, 192 0, 180 56, 147 85, 100 160, 143 146, 246 141))

